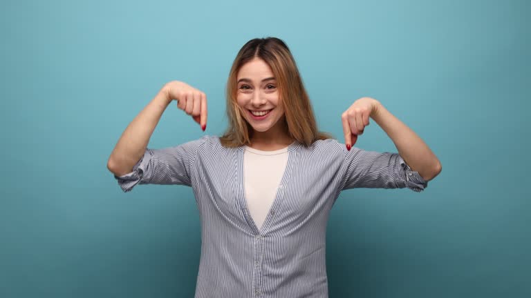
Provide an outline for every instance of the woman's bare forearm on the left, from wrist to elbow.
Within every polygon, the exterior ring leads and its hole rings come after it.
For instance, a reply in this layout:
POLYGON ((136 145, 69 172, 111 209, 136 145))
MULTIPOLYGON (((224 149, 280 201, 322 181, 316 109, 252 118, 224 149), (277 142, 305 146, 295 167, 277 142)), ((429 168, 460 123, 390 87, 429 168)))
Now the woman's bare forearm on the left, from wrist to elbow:
POLYGON ((171 100, 162 89, 147 106, 129 123, 111 152, 107 168, 115 175, 125 175, 144 155, 149 139, 155 130, 162 113, 171 100))

